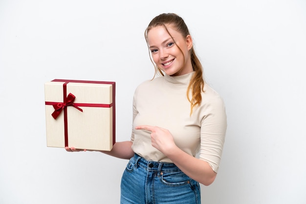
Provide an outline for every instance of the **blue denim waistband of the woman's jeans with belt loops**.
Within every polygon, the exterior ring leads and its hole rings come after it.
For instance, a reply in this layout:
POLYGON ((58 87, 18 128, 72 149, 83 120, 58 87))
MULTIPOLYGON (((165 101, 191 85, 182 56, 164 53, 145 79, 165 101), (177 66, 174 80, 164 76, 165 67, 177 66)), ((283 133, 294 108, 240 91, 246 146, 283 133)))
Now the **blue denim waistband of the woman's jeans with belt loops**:
POLYGON ((179 172, 181 171, 174 163, 149 161, 139 156, 136 153, 134 154, 134 159, 135 159, 135 163, 138 166, 141 166, 148 171, 158 171, 158 172, 179 172))

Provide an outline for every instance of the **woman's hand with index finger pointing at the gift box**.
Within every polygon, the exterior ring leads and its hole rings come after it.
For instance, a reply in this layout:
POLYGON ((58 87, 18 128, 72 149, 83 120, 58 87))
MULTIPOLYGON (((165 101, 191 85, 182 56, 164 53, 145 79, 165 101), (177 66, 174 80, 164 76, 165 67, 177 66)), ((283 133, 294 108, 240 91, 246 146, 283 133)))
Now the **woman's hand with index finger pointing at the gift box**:
POLYGON ((167 152, 171 151, 173 148, 176 147, 174 138, 167 129, 151 125, 139 125, 135 127, 135 129, 143 129, 150 131, 152 146, 165 155, 167 155, 167 152))

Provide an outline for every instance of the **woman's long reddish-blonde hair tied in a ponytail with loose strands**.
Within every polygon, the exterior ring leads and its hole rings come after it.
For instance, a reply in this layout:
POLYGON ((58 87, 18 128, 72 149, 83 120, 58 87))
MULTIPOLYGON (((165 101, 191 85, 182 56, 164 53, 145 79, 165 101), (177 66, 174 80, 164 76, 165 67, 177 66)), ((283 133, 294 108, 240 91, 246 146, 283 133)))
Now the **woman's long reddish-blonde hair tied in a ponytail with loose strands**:
MULTIPOLYGON (((147 35, 148 35, 148 32, 149 32, 150 29, 152 29, 154 27, 157 27, 157 26, 163 26, 166 29, 166 31, 168 32, 168 34, 171 36, 171 34, 169 33, 169 31, 167 29, 166 24, 171 24, 172 26, 174 26, 175 29, 178 32, 180 32, 182 34, 182 36, 185 37, 185 38, 188 35, 190 35, 189 30, 187 28, 187 25, 181 17, 179 17, 178 15, 176 15, 174 13, 160 14, 159 16, 156 16, 153 20, 151 20, 147 29, 145 30, 145 39, 147 41, 148 48, 149 48, 149 43, 148 43, 148 36, 147 35)), ((181 51, 181 53, 183 54, 183 51, 181 50, 181 48, 180 47, 178 47, 178 48, 181 51)), ((149 49, 149 55, 150 55, 150 49, 149 49)), ((191 78, 191 80, 189 82, 189 85, 188 85, 188 88, 187 88, 187 99, 191 103, 191 111, 190 111, 190 115, 191 115, 192 112, 193 112, 193 108, 196 105, 199 105, 202 102, 201 93, 204 92, 204 79, 203 79, 203 67, 202 67, 201 62, 197 58, 194 47, 192 47, 190 49, 190 55, 191 55, 192 67, 193 67, 193 70, 195 71, 195 74, 191 78), (191 99, 190 99, 190 96, 189 96, 190 91, 192 93, 192 98, 191 99)), ((151 59, 152 63, 154 64, 154 62, 151 58, 151 55, 150 55, 150 59, 151 59)), ((153 78, 156 76, 157 73, 164 76, 162 70, 159 67, 157 67, 156 64, 154 64, 154 67, 155 67, 155 73, 154 73, 153 78)))

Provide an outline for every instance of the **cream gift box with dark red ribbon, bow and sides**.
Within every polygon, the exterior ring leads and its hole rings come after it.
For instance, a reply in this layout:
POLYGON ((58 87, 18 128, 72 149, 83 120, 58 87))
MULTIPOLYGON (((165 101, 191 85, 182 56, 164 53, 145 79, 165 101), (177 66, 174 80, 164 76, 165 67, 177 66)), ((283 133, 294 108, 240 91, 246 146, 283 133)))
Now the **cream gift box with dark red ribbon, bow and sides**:
POLYGON ((115 82, 44 83, 48 147, 110 151, 115 143, 115 82))

